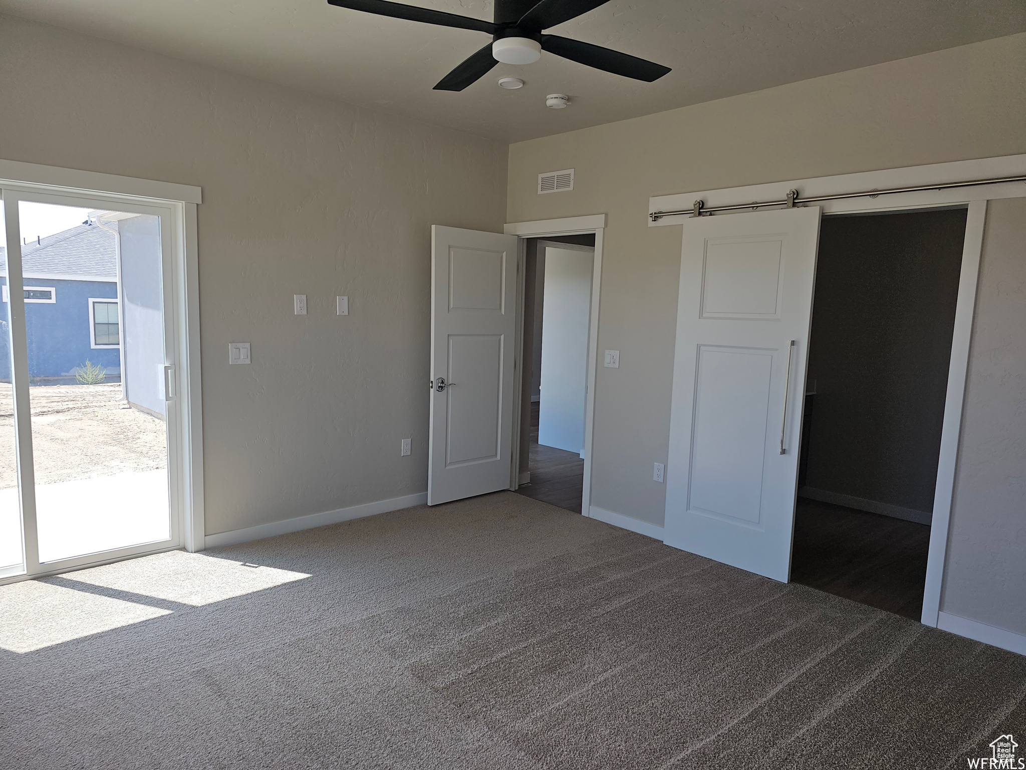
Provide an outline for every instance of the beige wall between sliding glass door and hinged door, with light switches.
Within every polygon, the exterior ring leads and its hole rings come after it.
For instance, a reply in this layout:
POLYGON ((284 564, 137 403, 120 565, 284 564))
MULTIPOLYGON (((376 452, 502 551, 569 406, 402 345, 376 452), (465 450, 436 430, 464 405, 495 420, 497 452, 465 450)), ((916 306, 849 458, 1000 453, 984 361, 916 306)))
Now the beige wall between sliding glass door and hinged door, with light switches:
POLYGON ((208 533, 426 490, 429 226, 501 232, 505 145, 9 16, 0 72, 0 157, 203 188, 208 533))

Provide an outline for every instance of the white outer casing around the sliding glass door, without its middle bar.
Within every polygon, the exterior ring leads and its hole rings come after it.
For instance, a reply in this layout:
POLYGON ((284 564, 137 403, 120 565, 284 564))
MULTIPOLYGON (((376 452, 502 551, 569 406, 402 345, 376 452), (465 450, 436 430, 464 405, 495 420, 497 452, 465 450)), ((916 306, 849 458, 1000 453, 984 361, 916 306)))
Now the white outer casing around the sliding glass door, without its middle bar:
MULTIPOLYGON (((69 201, 87 197, 111 208, 134 207, 160 209, 170 224, 170 277, 173 302, 173 319, 177 341, 177 371, 175 389, 177 409, 177 465, 180 479, 176 485, 182 521, 179 543, 173 548, 185 547, 190 551, 204 548, 205 528, 203 511, 203 429, 200 381, 199 335, 199 273, 196 229, 196 207, 202 200, 200 188, 168 182, 155 182, 131 177, 82 171, 56 166, 23 163, 0 159, 0 188, 15 194, 25 193, 66 196, 69 201)), ((7 213, 8 231, 16 229, 16 218, 7 213)), ((12 307, 12 310, 14 308, 12 307)), ((25 401, 25 399, 22 399, 25 401)), ((23 406, 28 410, 27 403, 23 406)), ((26 417, 27 415, 23 416, 26 417)), ((24 458, 23 458, 24 459, 24 458)), ((171 491, 172 499, 175 491, 171 491)), ((28 535, 28 533, 26 533, 28 535)), ((55 574, 84 566, 106 564, 130 557, 141 552, 167 550, 168 548, 119 549, 116 556, 103 553, 63 560, 60 569, 37 572, 34 575, 16 575, 0 579, 0 583, 55 574)), ((29 566, 27 565, 27 568, 29 566)))

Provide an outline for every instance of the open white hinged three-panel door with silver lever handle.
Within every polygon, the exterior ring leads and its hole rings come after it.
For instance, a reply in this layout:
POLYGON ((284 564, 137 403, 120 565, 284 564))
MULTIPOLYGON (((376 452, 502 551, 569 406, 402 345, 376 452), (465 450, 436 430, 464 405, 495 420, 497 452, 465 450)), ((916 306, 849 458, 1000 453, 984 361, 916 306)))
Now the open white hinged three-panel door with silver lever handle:
POLYGON ((431 228, 428 505, 509 489, 517 238, 431 228))

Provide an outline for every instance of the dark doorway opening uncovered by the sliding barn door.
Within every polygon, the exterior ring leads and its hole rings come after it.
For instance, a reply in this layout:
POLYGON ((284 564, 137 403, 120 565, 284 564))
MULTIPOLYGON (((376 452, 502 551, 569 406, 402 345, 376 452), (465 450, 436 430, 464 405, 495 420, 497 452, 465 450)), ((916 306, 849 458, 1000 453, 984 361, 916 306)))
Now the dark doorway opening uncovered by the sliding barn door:
POLYGON ((820 231, 791 580, 922 612, 966 210, 820 231))

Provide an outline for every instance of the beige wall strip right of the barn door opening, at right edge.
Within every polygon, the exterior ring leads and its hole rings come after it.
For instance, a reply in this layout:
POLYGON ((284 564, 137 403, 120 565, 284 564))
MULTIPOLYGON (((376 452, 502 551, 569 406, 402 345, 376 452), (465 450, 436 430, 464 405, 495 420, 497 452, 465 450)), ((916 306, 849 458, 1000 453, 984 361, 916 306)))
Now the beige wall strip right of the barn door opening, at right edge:
POLYGON ((1026 634, 1026 198, 983 233, 941 609, 1026 634))

